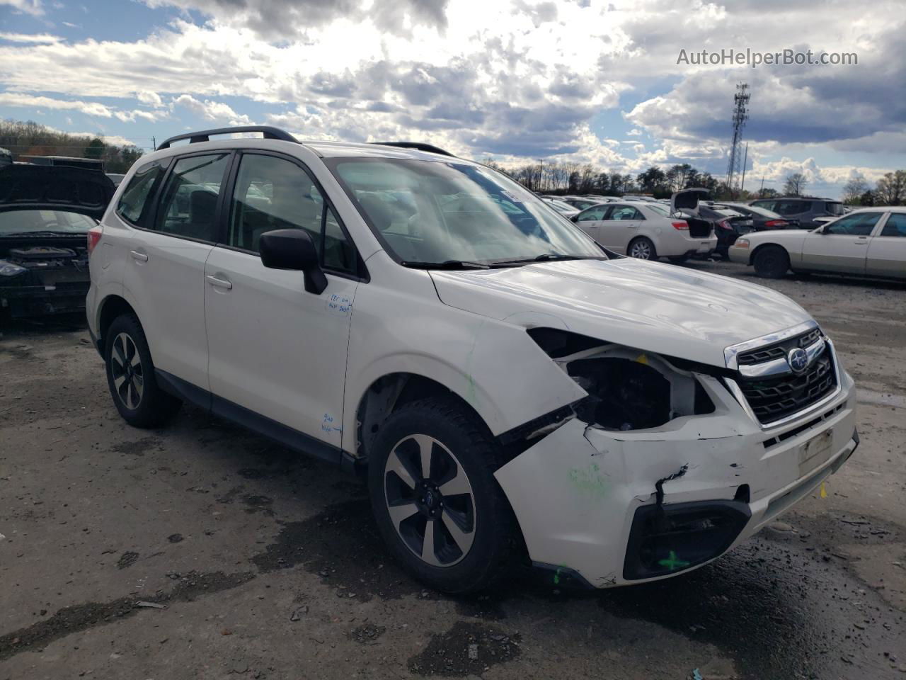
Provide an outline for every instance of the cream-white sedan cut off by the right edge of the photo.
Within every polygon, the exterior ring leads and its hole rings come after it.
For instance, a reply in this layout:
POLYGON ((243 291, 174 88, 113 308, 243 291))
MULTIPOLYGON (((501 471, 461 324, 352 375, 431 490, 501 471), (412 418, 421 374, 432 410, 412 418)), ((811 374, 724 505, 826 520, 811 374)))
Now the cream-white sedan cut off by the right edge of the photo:
POLYGON ((759 231, 737 238, 730 259, 759 277, 834 272, 906 278, 906 207, 863 208, 812 231, 759 231))

